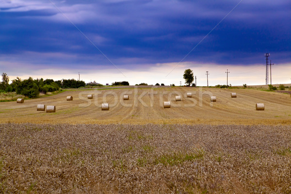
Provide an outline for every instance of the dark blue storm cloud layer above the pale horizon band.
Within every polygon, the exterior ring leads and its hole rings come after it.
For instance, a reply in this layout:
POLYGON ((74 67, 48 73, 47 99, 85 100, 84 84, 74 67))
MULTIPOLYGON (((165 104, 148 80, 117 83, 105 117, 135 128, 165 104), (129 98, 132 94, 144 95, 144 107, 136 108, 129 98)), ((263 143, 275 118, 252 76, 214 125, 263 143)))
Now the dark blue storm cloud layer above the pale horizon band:
MULTIPOLYGON (((179 62, 239 1, 52 2, 114 64, 126 65, 179 62)), ((271 52, 276 63, 290 62, 290 13, 287 0, 242 0, 184 61, 254 64, 271 52)), ((0 1, 0 59, 110 65, 65 16, 49 0, 0 1)))

